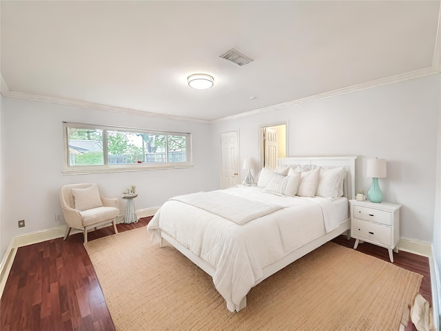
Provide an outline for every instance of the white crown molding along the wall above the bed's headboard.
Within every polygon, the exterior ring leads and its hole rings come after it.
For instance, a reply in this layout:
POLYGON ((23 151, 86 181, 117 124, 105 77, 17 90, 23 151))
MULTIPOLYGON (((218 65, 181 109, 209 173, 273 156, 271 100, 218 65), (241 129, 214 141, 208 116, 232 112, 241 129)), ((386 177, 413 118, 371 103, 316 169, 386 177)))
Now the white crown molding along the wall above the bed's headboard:
POLYGON ((327 99, 330 97, 336 97, 337 95, 340 95, 340 94, 347 94, 347 93, 351 93, 351 92, 368 90, 369 88, 376 88, 378 86, 399 83, 400 81, 409 81, 411 79, 416 79, 419 77, 430 76, 431 74, 438 74, 439 72, 440 72, 440 70, 438 70, 438 68, 435 69, 432 66, 429 68, 415 70, 412 72, 406 72, 404 74, 398 74, 396 76, 391 76, 391 77, 387 77, 387 78, 383 78, 383 79, 377 79, 376 81, 369 81, 367 83, 361 83, 358 85, 349 86, 347 88, 340 88, 338 90, 333 90, 333 91, 329 91, 329 92, 325 92, 325 93, 312 95, 310 97, 300 98, 300 99, 296 99, 293 101, 287 101, 285 103, 279 103, 274 106, 259 108, 256 110, 251 110, 249 112, 241 112, 240 114, 236 114, 236 115, 232 115, 232 116, 228 116, 228 117, 222 117, 220 119, 214 119, 213 121, 209 121, 209 123, 212 124, 212 123, 218 123, 218 122, 223 122, 223 121, 231 121, 234 119, 249 117, 249 116, 253 116, 256 114, 262 114, 264 112, 272 112, 274 110, 280 110, 283 108, 288 108, 291 106, 300 105, 301 103, 308 103, 308 102, 312 102, 312 101, 327 99))

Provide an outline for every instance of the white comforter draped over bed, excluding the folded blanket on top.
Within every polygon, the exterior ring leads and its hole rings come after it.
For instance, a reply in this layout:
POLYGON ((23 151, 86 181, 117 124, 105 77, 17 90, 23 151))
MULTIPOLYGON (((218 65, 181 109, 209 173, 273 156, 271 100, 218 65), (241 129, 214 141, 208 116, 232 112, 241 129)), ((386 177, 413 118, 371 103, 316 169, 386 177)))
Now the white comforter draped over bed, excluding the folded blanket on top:
POLYGON ((207 210, 170 200, 154 215, 147 230, 157 237, 161 229, 212 265, 216 290, 231 311, 260 281, 266 265, 339 225, 336 209, 328 199, 278 197, 249 188, 222 192, 284 208, 238 225, 207 210))

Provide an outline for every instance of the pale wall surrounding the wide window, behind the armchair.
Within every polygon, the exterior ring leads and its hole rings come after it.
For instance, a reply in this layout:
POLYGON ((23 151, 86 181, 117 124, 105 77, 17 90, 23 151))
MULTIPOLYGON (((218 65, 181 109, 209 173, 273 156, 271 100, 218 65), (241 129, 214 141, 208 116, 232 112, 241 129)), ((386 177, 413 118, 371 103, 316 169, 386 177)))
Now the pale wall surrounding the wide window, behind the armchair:
POLYGON ((0 260, 12 237, 64 223, 56 223, 55 214, 61 214, 59 189, 66 183, 98 183, 103 196, 120 198, 121 214, 125 208, 121 192, 132 183, 139 194, 136 209, 161 205, 177 194, 218 188, 212 176, 208 124, 4 97, 1 101, 0 260), (191 132, 194 168, 65 176, 62 121, 191 132), (25 219, 25 228, 18 228, 20 219, 25 219))

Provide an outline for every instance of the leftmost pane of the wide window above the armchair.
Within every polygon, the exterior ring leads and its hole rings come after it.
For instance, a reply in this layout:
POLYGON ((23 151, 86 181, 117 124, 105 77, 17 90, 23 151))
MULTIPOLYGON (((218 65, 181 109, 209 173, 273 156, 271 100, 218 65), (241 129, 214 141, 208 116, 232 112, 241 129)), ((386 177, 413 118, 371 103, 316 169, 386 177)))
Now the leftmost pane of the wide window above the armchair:
POLYGON ((68 128, 69 165, 103 165, 103 130, 68 128))

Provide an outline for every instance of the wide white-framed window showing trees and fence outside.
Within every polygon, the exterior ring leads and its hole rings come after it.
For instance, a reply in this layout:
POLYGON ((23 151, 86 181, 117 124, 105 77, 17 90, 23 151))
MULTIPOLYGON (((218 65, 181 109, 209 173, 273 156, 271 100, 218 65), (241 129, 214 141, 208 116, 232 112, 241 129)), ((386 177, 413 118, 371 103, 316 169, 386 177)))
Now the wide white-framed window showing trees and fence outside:
POLYGON ((192 166, 191 134, 63 123, 64 173, 192 166))

